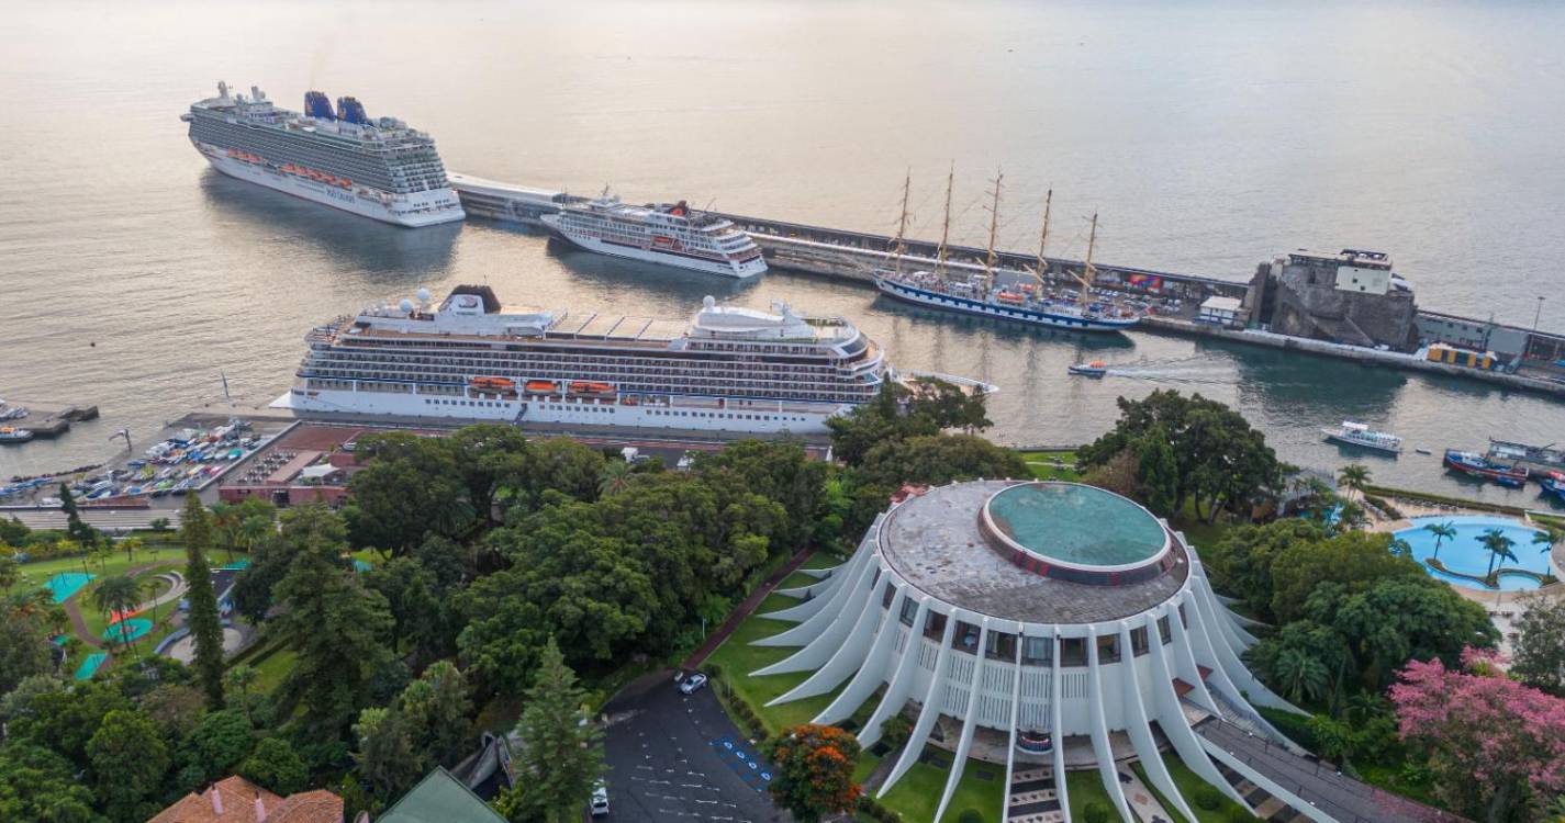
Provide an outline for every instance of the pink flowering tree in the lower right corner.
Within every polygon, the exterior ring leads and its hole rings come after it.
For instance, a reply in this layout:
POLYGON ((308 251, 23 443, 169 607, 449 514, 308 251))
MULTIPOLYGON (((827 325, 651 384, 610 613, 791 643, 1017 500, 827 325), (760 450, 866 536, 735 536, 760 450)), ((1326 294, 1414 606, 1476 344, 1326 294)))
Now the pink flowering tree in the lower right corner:
POLYGON ((1435 792, 1474 820, 1537 820, 1565 792, 1565 699, 1502 674, 1495 652, 1463 670, 1408 662, 1391 687, 1402 740, 1429 754, 1435 792))

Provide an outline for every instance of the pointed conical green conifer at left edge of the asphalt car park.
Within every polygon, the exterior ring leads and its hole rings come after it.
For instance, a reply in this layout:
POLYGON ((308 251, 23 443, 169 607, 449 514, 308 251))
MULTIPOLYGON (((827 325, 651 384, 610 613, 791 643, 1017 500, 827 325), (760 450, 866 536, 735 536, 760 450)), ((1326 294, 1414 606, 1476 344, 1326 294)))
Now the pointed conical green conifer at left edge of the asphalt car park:
POLYGON ((585 695, 554 638, 538 652, 527 707, 516 721, 516 785, 496 803, 512 823, 573 823, 603 774, 603 732, 582 723, 585 695))

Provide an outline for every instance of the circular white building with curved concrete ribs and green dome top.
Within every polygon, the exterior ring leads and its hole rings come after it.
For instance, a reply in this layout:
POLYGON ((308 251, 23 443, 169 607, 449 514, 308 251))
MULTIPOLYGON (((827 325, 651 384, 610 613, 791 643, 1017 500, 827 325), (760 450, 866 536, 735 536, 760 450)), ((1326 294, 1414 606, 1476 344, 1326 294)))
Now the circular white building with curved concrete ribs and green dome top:
POLYGON ((1255 638, 1183 535, 1130 499, 1011 480, 916 491, 876 518, 847 563, 815 574, 782 591, 803 602, 765 615, 797 626, 756 642, 798 651, 753 676, 811 671, 773 703, 837 692, 815 723, 844 721, 880 693, 859 729, 865 746, 894 713, 916 717, 880 795, 937 739, 955 759, 934 820, 967 757, 1005 764, 1006 820, 1069 820, 1055 779, 1066 768, 1097 768, 1133 820, 1116 767, 1127 759, 1196 820, 1164 768, 1171 751, 1246 807, 1258 804, 1235 784, 1249 781, 1277 806, 1333 820, 1214 734, 1297 753, 1250 707, 1291 709, 1239 660, 1255 638))

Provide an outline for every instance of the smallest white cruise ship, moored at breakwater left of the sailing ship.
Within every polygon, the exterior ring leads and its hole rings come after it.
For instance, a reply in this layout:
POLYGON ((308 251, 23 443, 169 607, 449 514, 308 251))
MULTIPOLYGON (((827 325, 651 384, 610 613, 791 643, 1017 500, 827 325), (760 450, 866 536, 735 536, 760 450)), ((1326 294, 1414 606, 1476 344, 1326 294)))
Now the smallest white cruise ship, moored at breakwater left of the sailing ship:
POLYGON ((678 203, 634 207, 609 189, 559 214, 540 217, 549 233, 573 246, 613 257, 646 260, 725 277, 767 271, 761 247, 732 221, 678 203))

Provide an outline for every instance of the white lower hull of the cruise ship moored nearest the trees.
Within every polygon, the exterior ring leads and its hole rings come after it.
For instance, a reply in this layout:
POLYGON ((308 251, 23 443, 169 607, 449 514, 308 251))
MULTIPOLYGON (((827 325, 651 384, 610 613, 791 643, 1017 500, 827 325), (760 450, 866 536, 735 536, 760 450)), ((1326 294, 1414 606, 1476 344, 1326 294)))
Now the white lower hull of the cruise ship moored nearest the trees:
POLYGON ((842 415, 850 404, 803 404, 792 401, 668 397, 660 405, 615 397, 543 397, 516 399, 452 394, 421 394, 416 385, 408 391, 379 390, 313 390, 293 386, 272 401, 272 408, 290 408, 300 416, 365 415, 426 418, 440 421, 498 421, 529 424, 560 424, 579 427, 670 429, 696 432, 728 432, 751 435, 823 433, 826 419, 842 415))

